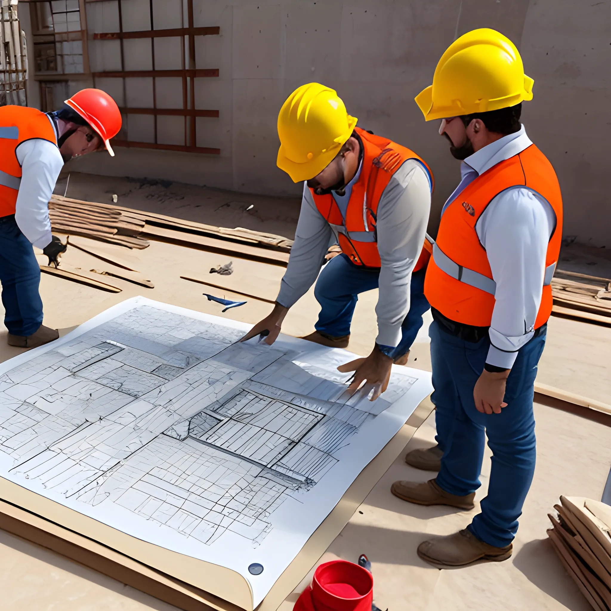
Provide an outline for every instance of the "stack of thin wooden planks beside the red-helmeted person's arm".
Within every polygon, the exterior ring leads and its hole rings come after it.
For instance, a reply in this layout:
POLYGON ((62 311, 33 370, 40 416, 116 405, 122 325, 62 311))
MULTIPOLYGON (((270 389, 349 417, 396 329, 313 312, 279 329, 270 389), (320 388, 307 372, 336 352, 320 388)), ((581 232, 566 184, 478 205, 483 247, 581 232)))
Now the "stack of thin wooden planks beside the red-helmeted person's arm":
POLYGON ((145 222, 128 211, 53 195, 49 201, 49 218, 54 232, 87 236, 129 248, 148 246, 148 241, 141 237, 145 222))

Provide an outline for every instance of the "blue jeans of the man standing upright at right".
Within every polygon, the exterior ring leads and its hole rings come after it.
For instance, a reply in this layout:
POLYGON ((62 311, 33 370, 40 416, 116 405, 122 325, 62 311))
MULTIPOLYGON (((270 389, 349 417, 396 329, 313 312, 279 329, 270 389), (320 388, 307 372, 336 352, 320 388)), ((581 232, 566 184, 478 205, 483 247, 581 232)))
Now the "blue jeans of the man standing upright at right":
POLYGON ((437 484, 464 496, 480 487, 485 437, 492 450, 488 496, 469 530, 480 541, 504 547, 513 541, 518 518, 535 472, 533 396, 537 363, 546 331, 532 338, 511 368, 505 389, 508 404, 500 414, 480 414, 473 389, 488 355, 488 335, 478 343, 445 332, 436 321, 429 327, 437 443, 444 452, 437 484))

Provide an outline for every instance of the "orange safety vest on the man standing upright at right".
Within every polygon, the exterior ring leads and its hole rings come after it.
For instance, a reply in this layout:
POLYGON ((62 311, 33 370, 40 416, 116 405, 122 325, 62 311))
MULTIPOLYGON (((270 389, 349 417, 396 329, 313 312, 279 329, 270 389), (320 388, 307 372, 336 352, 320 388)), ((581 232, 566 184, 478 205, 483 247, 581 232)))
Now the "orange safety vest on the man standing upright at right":
POLYGON ((551 282, 562 241, 562 196, 552 164, 532 144, 475 178, 442 214, 433 258, 426 270, 424 293, 431 307, 446 318, 477 327, 490 326, 496 282, 475 225, 500 192, 519 185, 544 197, 556 214, 556 226, 547 244, 543 296, 535 329, 551 315, 551 282))

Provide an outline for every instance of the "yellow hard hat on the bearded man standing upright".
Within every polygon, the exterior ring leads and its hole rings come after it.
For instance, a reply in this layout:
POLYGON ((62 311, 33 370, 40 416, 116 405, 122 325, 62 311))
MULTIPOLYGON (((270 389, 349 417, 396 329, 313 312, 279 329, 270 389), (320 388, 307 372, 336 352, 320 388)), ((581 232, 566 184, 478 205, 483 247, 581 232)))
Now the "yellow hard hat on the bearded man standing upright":
POLYGON ((415 100, 427 121, 496 111, 532 100, 518 49, 488 27, 467 32, 441 56, 433 84, 415 100))

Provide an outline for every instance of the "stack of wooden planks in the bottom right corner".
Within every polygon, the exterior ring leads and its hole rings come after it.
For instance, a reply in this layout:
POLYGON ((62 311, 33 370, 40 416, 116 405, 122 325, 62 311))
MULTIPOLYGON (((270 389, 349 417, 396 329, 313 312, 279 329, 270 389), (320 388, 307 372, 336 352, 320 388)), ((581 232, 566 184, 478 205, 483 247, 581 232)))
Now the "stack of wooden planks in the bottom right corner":
POLYGON ((611 609, 611 507, 583 497, 560 497, 547 531, 560 562, 596 611, 611 609))

